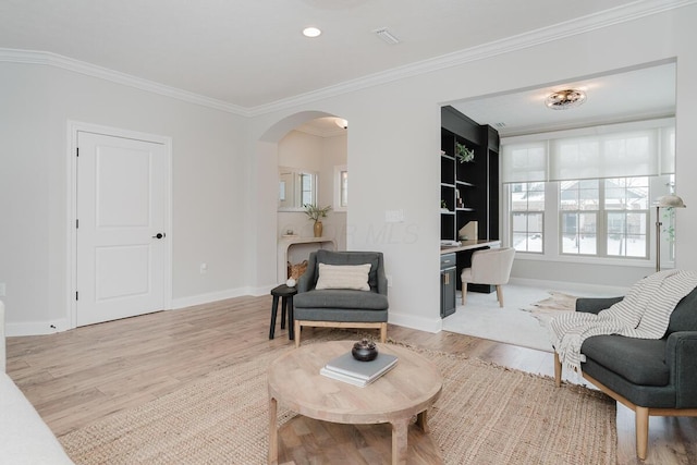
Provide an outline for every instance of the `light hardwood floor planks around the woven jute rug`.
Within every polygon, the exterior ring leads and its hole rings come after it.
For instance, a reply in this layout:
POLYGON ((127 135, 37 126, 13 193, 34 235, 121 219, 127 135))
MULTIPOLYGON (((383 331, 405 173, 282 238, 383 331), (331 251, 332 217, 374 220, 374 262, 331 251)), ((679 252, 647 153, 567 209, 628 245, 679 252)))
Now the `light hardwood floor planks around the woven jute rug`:
MULTIPOLYGON (((8 374, 52 431, 65 435, 239 362, 243 347, 261 353, 290 346, 288 329, 277 326, 276 339, 268 339, 270 307, 271 296, 237 297, 57 334, 8 338, 8 374)), ((303 338, 322 331, 305 329, 303 338)), ((552 354, 545 352, 393 325, 388 336, 553 376, 552 354)), ((617 464, 697 464, 697 418, 651 417, 645 462, 635 455, 634 413, 623 406, 617 407, 617 464)))

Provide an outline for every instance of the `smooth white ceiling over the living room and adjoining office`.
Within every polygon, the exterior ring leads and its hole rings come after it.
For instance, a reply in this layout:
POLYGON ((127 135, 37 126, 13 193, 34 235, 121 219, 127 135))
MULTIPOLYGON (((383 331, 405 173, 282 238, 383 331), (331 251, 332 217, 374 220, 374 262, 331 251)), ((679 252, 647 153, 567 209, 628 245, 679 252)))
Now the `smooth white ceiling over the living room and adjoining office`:
MULTIPOLYGON (((622 8, 631 15, 640 3, 647 2, 2 0, 0 48, 56 53, 241 109, 255 109, 551 26, 592 22, 622 8), (304 37, 301 30, 308 25, 321 28, 322 34, 304 37), (400 44, 386 44, 375 34, 384 27, 400 44)), ((647 11, 656 11, 657 4, 676 2, 648 3, 651 8, 647 5, 647 11)), ((647 82, 667 78, 659 74, 645 70, 632 81, 632 93, 636 89, 643 97, 636 102, 650 98, 657 108, 670 107, 667 101, 653 101, 659 95, 646 90, 653 88, 647 87, 647 82)), ((628 75, 553 83, 540 90, 524 89, 515 97, 491 96, 486 101, 456 102, 455 107, 481 123, 505 123, 502 133, 515 133, 516 127, 529 126, 530 112, 536 112, 528 110, 535 106, 526 109, 524 103, 558 88, 557 84, 568 84, 589 86, 588 101, 574 110, 575 115, 592 118, 596 108, 603 118, 611 109, 633 114, 644 111, 625 106, 623 77, 628 75)), ((658 94, 670 94, 660 88, 658 94)), ((539 110, 540 119, 552 118, 550 110, 539 110)), ((574 114, 566 113, 561 121, 574 114)))

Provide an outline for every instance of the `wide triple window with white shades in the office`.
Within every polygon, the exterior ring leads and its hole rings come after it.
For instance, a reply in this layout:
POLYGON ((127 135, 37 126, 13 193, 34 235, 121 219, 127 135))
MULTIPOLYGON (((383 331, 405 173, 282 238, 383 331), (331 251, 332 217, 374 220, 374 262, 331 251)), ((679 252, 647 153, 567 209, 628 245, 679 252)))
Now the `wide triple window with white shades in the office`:
MULTIPOLYGON (((651 199, 672 191, 673 119, 509 137, 501 144, 503 219, 517 250, 627 260, 655 254, 651 199)), ((670 238, 661 242, 661 252, 672 258, 672 217, 662 213, 670 238)))

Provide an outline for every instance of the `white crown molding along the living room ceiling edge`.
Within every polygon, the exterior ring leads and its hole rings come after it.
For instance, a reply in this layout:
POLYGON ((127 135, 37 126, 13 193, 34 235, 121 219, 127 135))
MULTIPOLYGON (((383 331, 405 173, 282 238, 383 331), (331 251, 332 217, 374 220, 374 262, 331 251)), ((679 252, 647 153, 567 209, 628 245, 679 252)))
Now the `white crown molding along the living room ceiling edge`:
POLYGON ((697 3, 697 0, 638 0, 627 5, 617 7, 600 13, 578 17, 573 21, 560 23, 553 26, 540 28, 537 30, 444 54, 441 57, 436 57, 433 59, 424 60, 417 63, 398 66, 382 73, 376 73, 357 79, 346 81, 338 85, 325 87, 306 94, 281 99, 272 103, 261 105, 253 108, 236 106, 222 100, 205 97, 175 87, 166 86, 152 81, 121 73, 119 71, 109 70, 107 68, 97 66, 91 63, 74 60, 51 52, 0 48, 0 61, 52 65, 84 75, 111 81, 117 84, 131 86, 140 90, 176 98, 191 103, 196 103, 221 111, 227 111, 237 115, 255 117, 272 111, 288 109, 298 105, 311 103, 320 99, 360 90, 367 87, 387 84, 390 82, 443 70, 447 68, 457 66, 473 61, 484 60, 494 56, 534 47, 540 44, 560 40, 590 30, 634 21, 669 10, 678 9, 693 3, 697 3))

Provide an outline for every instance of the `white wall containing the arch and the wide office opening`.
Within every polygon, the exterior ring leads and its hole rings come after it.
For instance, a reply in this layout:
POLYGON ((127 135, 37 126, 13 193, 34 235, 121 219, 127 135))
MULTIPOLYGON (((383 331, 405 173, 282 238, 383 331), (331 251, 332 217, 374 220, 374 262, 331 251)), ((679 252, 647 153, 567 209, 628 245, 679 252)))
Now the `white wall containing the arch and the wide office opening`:
MULTIPOLYGON (((697 168, 697 7, 637 19, 589 33, 542 41, 509 53, 464 62, 390 84, 284 108, 254 119, 253 137, 277 121, 310 108, 341 114, 351 122, 348 162, 352 189, 347 218, 348 249, 386 254, 390 321, 416 328, 440 328, 439 302, 439 129, 441 103, 522 87, 539 86, 604 73, 647 62, 677 61, 676 186, 686 203, 697 199, 689 182, 697 168), (646 32, 650 30, 650 34, 646 32), (356 188, 356 186, 358 186, 356 188), (404 209, 403 223, 386 223, 384 211, 404 209)), ((253 155, 254 156, 254 155, 253 155)), ((680 211, 676 240, 681 268, 697 268, 697 216, 680 211), (685 215, 683 215, 685 213, 685 215)), ((262 224, 262 223, 261 223, 262 224)), ((261 227, 259 224, 259 227, 261 227)), ((259 252, 261 253, 261 252, 259 252)), ((261 253, 262 254, 262 253, 261 253)), ((629 267, 575 264, 516 264, 517 278, 568 280, 624 287, 647 273, 629 267)))

